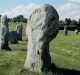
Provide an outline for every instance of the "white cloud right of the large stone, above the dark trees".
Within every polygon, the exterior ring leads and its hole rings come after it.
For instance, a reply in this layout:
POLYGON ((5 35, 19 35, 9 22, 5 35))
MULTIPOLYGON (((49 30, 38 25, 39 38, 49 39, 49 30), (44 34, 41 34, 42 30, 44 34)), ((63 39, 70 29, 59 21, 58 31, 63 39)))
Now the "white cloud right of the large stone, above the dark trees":
POLYGON ((58 7, 58 12, 60 19, 64 20, 65 18, 79 19, 80 10, 79 6, 74 3, 66 3, 58 7))

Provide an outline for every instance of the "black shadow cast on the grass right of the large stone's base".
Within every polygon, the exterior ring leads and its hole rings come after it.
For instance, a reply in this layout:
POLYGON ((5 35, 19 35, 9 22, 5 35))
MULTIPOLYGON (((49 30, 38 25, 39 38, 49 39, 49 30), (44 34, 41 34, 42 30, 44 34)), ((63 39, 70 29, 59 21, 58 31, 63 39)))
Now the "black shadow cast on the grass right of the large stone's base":
POLYGON ((58 68, 55 64, 52 64, 51 72, 53 75, 80 75, 80 71, 58 68))

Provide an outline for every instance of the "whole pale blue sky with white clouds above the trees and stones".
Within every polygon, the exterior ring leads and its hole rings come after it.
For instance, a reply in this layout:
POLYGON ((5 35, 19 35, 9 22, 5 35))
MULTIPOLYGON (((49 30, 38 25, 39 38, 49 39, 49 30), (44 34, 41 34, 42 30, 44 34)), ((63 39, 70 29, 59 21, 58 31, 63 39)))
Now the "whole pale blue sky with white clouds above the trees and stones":
POLYGON ((0 14, 6 14, 10 18, 17 15, 28 18, 31 12, 42 4, 54 6, 60 20, 66 17, 76 20, 80 18, 80 0, 0 0, 0 14))

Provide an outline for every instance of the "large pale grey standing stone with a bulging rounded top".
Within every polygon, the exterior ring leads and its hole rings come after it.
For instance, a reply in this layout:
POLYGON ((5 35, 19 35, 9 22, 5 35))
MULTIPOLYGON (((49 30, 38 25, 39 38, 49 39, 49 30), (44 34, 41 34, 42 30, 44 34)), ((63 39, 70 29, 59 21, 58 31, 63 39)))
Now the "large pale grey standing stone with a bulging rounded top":
POLYGON ((49 42, 58 33, 59 16, 51 5, 36 8, 27 24, 27 58, 24 68, 33 72, 50 70, 49 42))

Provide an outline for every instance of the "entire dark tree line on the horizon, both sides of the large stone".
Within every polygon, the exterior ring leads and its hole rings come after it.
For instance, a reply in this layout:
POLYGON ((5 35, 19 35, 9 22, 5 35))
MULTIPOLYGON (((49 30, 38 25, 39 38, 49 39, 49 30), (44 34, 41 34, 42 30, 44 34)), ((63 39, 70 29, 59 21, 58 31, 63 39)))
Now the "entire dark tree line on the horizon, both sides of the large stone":
MULTIPOLYGON (((27 23, 27 18, 25 18, 23 15, 18 15, 14 18, 8 18, 8 21, 27 23)), ((63 30, 65 26, 72 30, 75 30, 75 29, 80 30, 80 19, 72 20, 71 18, 65 18, 65 20, 60 20, 59 21, 60 30, 63 30)))

